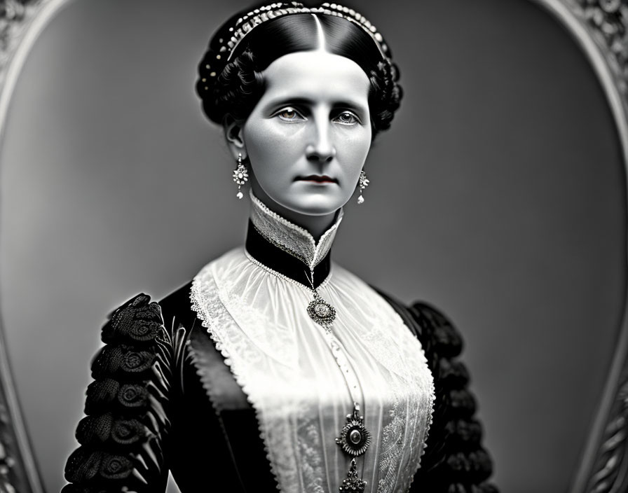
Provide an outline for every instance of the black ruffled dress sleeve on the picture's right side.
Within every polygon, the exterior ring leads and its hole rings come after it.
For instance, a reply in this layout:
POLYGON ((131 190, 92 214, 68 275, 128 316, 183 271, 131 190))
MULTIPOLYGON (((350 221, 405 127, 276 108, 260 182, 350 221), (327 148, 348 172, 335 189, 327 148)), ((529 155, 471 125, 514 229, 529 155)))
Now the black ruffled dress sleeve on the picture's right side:
POLYGON ((497 493, 487 482, 493 464, 482 447, 482 424, 475 417, 469 373, 458 361, 462 338, 434 307, 415 303, 409 311, 419 326, 417 335, 434 375, 436 394, 425 454, 410 491, 497 493))

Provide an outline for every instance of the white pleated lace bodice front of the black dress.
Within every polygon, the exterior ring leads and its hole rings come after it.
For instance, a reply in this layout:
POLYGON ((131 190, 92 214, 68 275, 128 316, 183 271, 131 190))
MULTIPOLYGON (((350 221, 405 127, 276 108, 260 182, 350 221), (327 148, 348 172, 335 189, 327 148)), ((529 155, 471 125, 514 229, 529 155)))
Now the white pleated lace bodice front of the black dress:
MULTIPOLYGON (((276 220, 264 209, 257 213, 264 221, 276 220)), ((282 219, 267 230, 281 232, 273 238, 277 242, 289 236, 298 243, 302 234, 285 234, 290 224, 282 219)), ((338 224, 339 218, 334 232, 338 224)), ((334 232, 327 237, 333 239, 334 232)), ((313 263, 320 256, 316 246, 312 240, 289 248, 306 256, 313 251, 313 263)), ((406 492, 420 463, 434 398, 421 343, 378 293, 338 265, 332 264, 318 292, 336 308, 329 334, 308 316, 308 287, 238 248, 200 270, 191 298, 256 411, 281 492, 338 492, 350 457, 335 438, 354 399, 371 433, 367 452, 356 459, 366 492, 406 492)))

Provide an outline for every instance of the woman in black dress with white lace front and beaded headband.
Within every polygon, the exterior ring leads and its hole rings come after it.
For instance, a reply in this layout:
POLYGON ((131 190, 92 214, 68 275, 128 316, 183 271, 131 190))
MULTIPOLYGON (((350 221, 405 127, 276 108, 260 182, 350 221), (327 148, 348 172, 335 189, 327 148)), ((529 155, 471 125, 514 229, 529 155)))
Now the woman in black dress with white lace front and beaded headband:
POLYGON ((460 338, 330 260, 399 106, 381 34, 271 4, 214 34, 197 92, 223 125, 245 247, 104 326, 64 492, 494 492, 460 338), (429 438, 428 438, 429 431, 429 438))

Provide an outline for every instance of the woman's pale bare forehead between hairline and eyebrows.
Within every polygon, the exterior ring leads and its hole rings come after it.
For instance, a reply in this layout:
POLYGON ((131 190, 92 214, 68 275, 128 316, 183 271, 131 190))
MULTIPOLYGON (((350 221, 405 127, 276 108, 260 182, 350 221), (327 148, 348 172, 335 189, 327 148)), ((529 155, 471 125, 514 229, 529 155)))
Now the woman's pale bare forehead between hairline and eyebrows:
POLYGON ((347 57, 325 50, 283 55, 264 70, 264 99, 355 99, 367 104, 369 78, 347 57))

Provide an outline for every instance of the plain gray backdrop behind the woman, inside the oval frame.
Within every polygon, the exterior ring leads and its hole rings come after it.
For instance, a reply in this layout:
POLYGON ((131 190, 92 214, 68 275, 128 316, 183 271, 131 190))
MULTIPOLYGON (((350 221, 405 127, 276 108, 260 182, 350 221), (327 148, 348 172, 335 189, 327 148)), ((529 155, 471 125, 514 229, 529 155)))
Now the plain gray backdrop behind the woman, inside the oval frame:
MULTIPOLYGON (((50 492, 109 310, 164 296, 243 241, 247 203, 193 95, 211 32, 243 5, 79 1, 20 78, 1 151, 1 303, 50 492)), ((334 258, 463 332, 503 491, 564 491, 624 300, 624 175, 606 99, 529 1, 359 8, 406 95, 334 258)))

